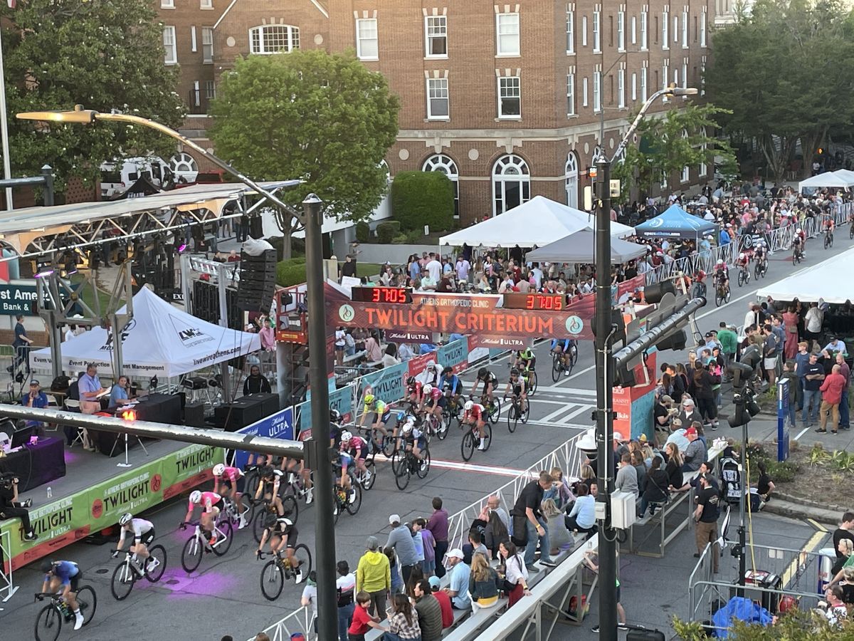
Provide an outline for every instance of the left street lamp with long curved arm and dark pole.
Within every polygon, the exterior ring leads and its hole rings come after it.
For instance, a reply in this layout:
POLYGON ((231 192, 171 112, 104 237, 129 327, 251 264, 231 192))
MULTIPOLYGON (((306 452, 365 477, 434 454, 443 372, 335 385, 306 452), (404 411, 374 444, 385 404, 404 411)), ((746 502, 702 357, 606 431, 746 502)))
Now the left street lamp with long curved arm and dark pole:
MULTIPOLYGON (((267 191, 254 180, 247 178, 231 167, 230 164, 214 156, 202 146, 194 143, 174 129, 142 118, 137 115, 127 114, 102 114, 94 109, 83 109, 82 105, 74 105, 72 111, 30 111, 16 115, 23 121, 42 122, 76 122, 91 124, 94 121, 128 122, 133 125, 146 126, 149 129, 161 132, 169 138, 174 138, 180 143, 195 150, 196 153, 213 162, 219 168, 230 173, 240 180, 243 185, 266 197, 272 203, 280 207, 286 215, 299 219, 301 216, 295 209, 278 198, 272 191, 267 191)), ((326 368, 326 321, 324 310, 324 278, 323 278, 323 250, 321 237, 321 205, 323 201, 314 194, 309 194, 303 201, 303 220, 306 228, 306 285, 308 298, 308 350, 312 355, 309 367, 309 382, 312 387, 312 424, 317 429, 318 437, 309 439, 307 454, 315 469, 314 483, 317 485, 314 500, 318 506, 317 521, 315 523, 315 550, 314 554, 318 560, 318 635, 319 638, 337 638, 337 598, 335 591, 335 524, 332 520, 332 470, 330 458, 327 456, 329 449, 325 441, 325 431, 320 429, 329 421, 329 387, 328 373, 326 368)))

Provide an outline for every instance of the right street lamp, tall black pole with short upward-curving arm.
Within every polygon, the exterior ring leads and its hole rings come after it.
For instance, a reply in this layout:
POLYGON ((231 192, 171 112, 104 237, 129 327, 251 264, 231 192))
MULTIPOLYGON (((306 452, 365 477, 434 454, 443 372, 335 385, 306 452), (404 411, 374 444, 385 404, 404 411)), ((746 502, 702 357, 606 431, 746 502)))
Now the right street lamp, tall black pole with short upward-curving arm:
POLYGON ((599 496, 605 503, 605 519, 599 521, 599 631, 604 641, 617 641, 617 532, 611 526, 611 493, 614 478, 611 472, 612 444, 614 438, 614 358, 611 350, 611 162, 618 158, 629 144, 646 111, 659 97, 694 96, 693 87, 670 85, 650 96, 617 145, 611 160, 603 148, 596 164, 600 179, 599 209, 596 212, 596 306, 594 319, 594 350, 596 372, 596 470, 599 496))

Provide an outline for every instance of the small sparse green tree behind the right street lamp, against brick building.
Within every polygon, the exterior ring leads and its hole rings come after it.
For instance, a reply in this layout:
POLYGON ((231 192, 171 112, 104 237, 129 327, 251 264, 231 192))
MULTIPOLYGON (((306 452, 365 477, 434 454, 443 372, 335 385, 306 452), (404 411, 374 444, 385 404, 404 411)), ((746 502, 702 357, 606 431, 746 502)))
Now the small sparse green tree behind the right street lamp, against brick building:
POLYGON ((724 109, 714 105, 687 105, 669 109, 661 118, 646 118, 637 133, 640 144, 629 145, 623 162, 611 169, 614 178, 621 180, 623 197, 637 185, 641 196, 652 191, 653 185, 669 181, 682 168, 695 168, 705 163, 709 168, 722 162, 724 173, 735 173, 735 155, 726 140, 715 138, 717 116, 724 109))

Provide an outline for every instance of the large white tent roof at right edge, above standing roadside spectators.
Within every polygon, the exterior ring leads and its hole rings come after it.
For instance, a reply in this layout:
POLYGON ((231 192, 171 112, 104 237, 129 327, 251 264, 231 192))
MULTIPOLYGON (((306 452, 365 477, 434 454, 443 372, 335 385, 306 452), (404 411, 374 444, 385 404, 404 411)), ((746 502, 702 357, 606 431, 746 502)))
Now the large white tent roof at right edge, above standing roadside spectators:
POLYGON ((854 294, 844 286, 839 286, 839 278, 845 273, 854 273, 854 249, 793 273, 788 278, 762 287, 756 293, 757 296, 769 296, 776 301, 798 298, 801 302, 813 303, 823 298, 825 303, 845 303, 849 298, 854 298, 854 294))

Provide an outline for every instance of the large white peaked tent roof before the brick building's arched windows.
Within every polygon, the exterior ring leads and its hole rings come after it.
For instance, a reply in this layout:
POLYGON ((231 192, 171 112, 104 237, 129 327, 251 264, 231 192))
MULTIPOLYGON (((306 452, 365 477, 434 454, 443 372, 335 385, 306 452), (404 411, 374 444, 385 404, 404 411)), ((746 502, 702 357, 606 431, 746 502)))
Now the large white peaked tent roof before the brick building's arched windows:
MULTIPOLYGON (((535 196, 504 214, 494 216, 477 225, 466 227, 439 239, 439 244, 472 247, 533 247, 553 243, 594 226, 594 215, 555 203, 547 197, 535 196)), ((629 236, 632 228, 611 222, 611 236, 629 236)))

